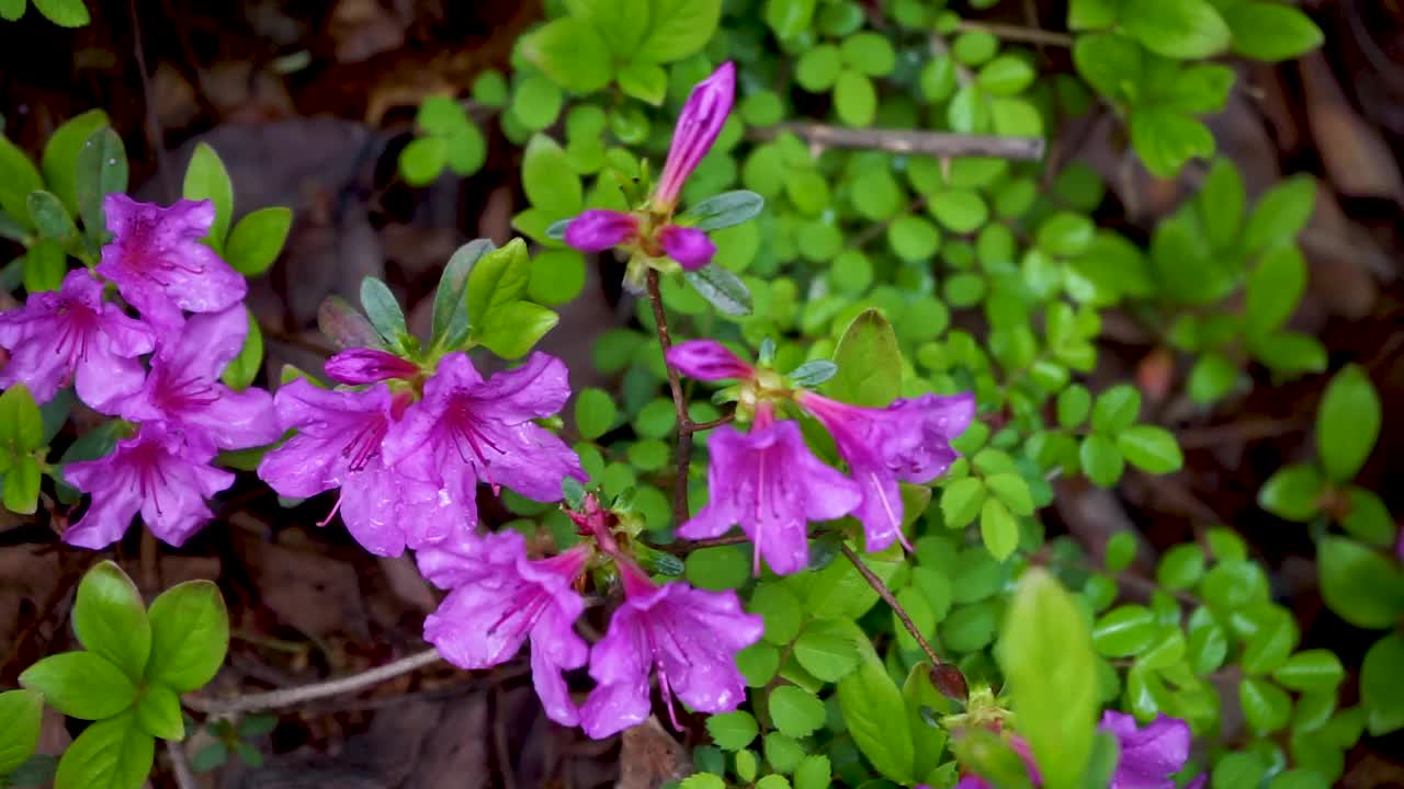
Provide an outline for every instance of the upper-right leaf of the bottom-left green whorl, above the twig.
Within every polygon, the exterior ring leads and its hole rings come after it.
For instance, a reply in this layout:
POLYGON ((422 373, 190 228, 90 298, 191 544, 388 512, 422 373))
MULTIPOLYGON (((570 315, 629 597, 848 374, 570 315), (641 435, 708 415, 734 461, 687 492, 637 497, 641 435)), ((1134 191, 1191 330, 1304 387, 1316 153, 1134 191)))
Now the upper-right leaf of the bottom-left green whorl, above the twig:
POLYGON ((229 612, 209 581, 177 584, 152 602, 146 681, 184 694, 209 682, 229 649, 229 612))

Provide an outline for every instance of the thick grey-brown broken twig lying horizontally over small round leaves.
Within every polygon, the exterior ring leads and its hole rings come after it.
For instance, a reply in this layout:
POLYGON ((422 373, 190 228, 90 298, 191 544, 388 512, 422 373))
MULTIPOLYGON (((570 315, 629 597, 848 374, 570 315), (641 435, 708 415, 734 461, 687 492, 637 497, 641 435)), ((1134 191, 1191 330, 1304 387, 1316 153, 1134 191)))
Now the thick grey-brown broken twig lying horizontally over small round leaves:
POLYGON ((991 156, 1015 161, 1038 161, 1043 157, 1046 145, 1043 138, 955 135, 918 129, 848 129, 804 121, 757 126, 750 129, 747 136, 754 140, 768 140, 785 132, 828 147, 859 147, 941 157, 991 156))

